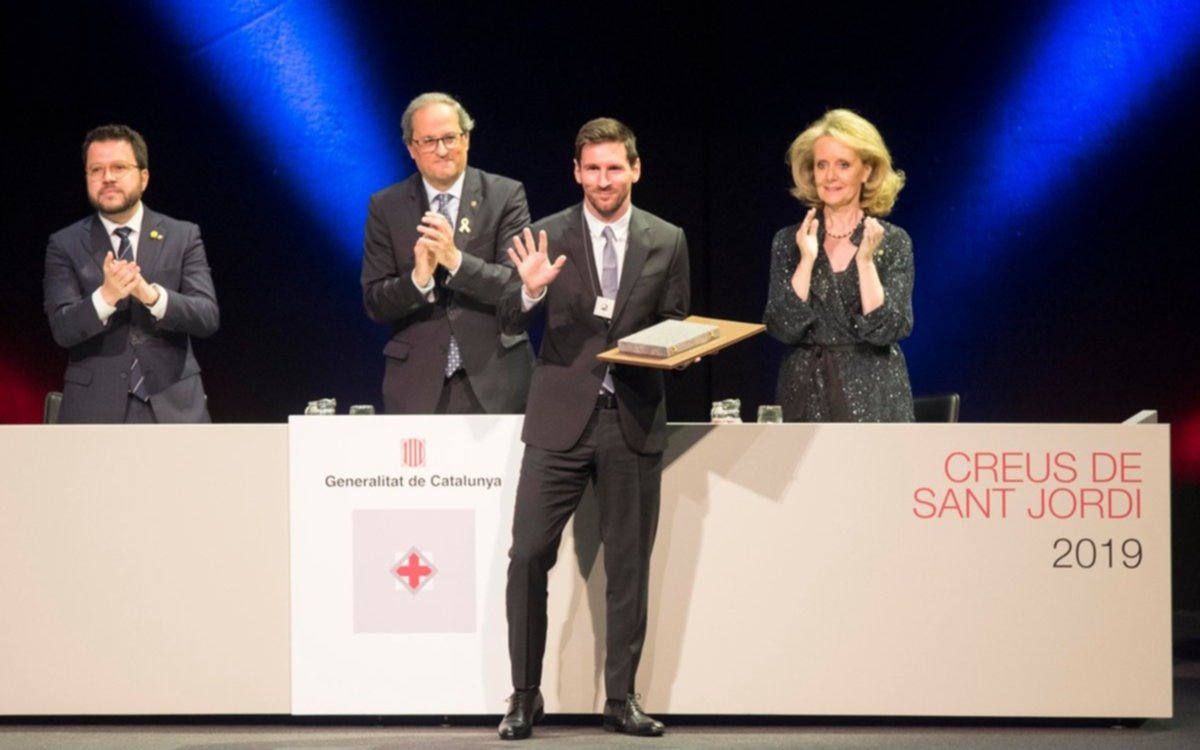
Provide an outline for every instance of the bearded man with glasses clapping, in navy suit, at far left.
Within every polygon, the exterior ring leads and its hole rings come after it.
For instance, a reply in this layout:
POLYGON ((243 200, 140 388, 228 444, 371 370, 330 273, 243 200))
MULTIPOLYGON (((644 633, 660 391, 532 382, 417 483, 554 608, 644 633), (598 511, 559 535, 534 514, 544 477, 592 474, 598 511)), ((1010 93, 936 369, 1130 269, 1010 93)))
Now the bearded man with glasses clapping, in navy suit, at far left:
POLYGON ((192 336, 220 325, 196 224, 142 203, 145 140, 106 125, 83 143, 96 214, 50 235, 46 314, 68 349, 60 422, 206 422, 192 336))

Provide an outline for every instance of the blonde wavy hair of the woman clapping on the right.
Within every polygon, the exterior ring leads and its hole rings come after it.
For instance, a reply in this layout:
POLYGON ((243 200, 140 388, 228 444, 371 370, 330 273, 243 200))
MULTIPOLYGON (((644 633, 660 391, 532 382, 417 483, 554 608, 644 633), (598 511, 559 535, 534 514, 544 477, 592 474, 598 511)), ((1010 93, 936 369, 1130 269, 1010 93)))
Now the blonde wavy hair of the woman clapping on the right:
POLYGON ((863 184, 859 203, 872 216, 887 216, 904 187, 904 172, 893 169, 892 154, 883 144, 883 137, 865 118, 850 109, 830 109, 823 118, 808 126, 787 149, 787 163, 792 167, 796 187, 792 194, 809 206, 820 206, 817 186, 812 180, 812 148, 824 136, 832 136, 853 149, 864 164, 871 168, 871 176, 863 184))

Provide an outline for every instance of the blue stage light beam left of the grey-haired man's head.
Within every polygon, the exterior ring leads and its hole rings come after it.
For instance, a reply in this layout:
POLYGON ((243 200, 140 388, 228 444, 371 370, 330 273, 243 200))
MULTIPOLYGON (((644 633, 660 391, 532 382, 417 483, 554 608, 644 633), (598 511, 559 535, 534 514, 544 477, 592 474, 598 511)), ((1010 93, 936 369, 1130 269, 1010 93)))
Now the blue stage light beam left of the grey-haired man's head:
POLYGON ((404 176, 398 119, 360 59, 335 0, 160 0, 158 17, 206 73, 263 168, 355 263, 367 197, 404 176))

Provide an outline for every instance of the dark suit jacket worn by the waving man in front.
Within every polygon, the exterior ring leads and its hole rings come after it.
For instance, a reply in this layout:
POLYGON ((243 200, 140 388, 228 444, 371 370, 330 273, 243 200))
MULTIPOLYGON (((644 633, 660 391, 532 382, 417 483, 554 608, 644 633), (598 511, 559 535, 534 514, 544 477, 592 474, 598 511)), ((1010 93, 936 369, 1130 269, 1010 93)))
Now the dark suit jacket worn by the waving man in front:
MULTIPOLYGON (((551 260, 568 257, 546 298, 521 311, 521 277, 514 275, 500 302, 505 332, 528 328, 545 311, 546 332, 529 386, 522 439, 547 450, 568 450, 580 439, 604 379, 596 354, 617 340, 666 318, 683 318, 690 304, 688 240, 683 229, 637 208, 629 222, 629 241, 612 322, 593 314, 599 274, 583 221, 582 204, 539 221, 551 260)), ((613 389, 625 443, 640 454, 666 446, 666 401, 662 373, 648 367, 616 366, 613 389)))

